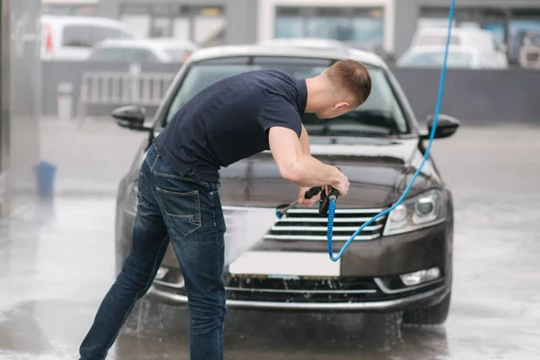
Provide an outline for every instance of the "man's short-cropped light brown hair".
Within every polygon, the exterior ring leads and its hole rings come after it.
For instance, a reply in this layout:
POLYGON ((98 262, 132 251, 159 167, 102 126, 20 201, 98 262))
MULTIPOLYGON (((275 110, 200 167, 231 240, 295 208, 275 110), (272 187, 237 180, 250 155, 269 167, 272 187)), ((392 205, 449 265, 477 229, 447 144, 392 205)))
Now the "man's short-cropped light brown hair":
POLYGON ((352 98, 355 106, 365 103, 371 94, 372 81, 364 64, 351 60, 340 60, 329 67, 324 75, 338 91, 352 98))

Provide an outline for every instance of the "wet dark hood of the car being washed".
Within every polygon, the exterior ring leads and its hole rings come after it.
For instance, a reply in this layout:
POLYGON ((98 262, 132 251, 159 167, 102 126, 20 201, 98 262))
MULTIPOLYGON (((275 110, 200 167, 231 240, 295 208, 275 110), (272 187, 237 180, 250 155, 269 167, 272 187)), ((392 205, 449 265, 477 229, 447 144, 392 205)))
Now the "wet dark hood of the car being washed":
MULTIPOLYGON (((354 144, 324 144, 314 139, 311 155, 338 166, 350 182, 340 208, 383 208, 392 205, 418 169, 423 154, 418 139, 355 139, 354 144)), ((284 180, 269 151, 220 170, 223 205, 276 207, 296 200, 298 185, 284 180)), ((408 197, 434 187, 441 180, 430 160, 408 197)))

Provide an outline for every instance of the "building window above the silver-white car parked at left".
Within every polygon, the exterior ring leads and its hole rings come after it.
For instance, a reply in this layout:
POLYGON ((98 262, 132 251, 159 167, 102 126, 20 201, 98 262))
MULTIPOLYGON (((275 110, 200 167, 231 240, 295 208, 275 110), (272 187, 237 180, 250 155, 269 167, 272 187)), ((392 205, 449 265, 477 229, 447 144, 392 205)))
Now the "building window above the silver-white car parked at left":
POLYGON ((123 4, 121 20, 139 37, 191 40, 200 46, 222 44, 227 27, 222 6, 123 4))

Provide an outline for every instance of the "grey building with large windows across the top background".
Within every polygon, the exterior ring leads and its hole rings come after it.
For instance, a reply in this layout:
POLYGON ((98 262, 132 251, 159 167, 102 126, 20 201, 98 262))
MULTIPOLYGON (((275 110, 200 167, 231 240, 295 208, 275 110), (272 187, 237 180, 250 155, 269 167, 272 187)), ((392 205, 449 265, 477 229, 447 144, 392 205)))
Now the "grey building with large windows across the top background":
MULTIPOLYGON (((418 26, 446 26, 449 0, 43 0, 44 13, 99 14, 130 23, 142 37, 202 45, 284 37, 344 40, 400 56, 418 26), (397 20, 399 14, 399 21, 397 20)), ((540 36, 537 0, 459 0, 458 26, 494 33, 517 57, 523 38, 540 36)))

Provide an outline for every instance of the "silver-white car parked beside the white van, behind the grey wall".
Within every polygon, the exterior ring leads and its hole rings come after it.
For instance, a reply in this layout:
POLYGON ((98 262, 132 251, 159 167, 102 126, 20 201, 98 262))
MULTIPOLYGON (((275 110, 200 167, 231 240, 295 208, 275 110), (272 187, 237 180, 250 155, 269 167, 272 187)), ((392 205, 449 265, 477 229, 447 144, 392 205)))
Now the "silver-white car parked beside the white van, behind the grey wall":
POLYGON ((88 61, 181 64, 195 49, 191 41, 174 39, 104 40, 94 46, 88 61))

